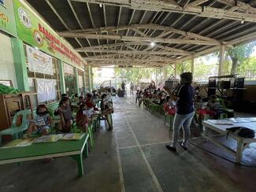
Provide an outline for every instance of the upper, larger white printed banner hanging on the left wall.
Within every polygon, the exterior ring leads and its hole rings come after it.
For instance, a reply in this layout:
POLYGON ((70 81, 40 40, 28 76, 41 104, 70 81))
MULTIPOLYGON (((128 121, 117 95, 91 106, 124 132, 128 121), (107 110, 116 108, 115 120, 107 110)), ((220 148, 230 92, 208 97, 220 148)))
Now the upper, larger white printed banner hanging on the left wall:
POLYGON ((28 69, 31 72, 39 72, 54 75, 53 59, 42 51, 26 46, 28 55, 28 69))

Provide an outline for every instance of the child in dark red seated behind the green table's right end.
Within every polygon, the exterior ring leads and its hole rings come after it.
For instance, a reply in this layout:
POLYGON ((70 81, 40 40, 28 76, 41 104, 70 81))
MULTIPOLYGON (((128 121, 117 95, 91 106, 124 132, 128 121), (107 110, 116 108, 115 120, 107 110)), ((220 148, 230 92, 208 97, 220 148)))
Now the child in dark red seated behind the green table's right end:
POLYGON ((88 131, 88 118, 83 111, 87 110, 87 106, 82 104, 80 105, 79 111, 76 113, 76 124, 83 132, 88 131))

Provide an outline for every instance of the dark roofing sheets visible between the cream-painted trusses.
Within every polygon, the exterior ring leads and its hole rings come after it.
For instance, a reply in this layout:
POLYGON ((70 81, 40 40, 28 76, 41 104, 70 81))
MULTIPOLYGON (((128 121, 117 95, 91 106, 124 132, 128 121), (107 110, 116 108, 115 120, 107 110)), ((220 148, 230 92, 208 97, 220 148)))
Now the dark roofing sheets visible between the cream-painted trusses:
MULTIPOLYGON (((176 29, 180 29, 182 31, 193 32, 198 35, 202 35, 205 37, 209 37, 212 39, 216 39, 220 42, 229 42, 234 39, 241 38, 246 35, 250 35, 256 32, 256 23, 254 22, 241 22, 241 20, 231 20, 231 19, 217 19, 210 17, 200 17, 187 13, 173 13, 167 11, 151 11, 148 9, 132 9, 124 6, 109 6, 102 4, 100 7, 96 3, 91 2, 76 2, 76 1, 63 1, 63 0, 49 0, 49 2, 54 6, 55 11, 60 15, 62 20, 65 22, 68 28, 65 28, 65 24, 61 22, 54 13, 54 10, 50 8, 49 4, 45 0, 28 0, 28 2, 37 10, 43 18, 54 28, 56 31, 69 31, 69 30, 80 30, 80 29, 88 29, 88 28, 102 28, 102 27, 110 27, 110 26, 126 26, 131 24, 159 24, 161 26, 170 26, 176 29), (71 6, 70 6, 71 5, 71 6), (72 11, 73 9, 73 11, 72 11), (105 14, 104 14, 105 13, 105 14), (77 19, 76 20, 76 16, 77 19), (243 24, 242 24, 243 23, 243 24)), ((110 1, 111 2, 111 1, 110 1)), ((179 1, 179 5, 185 5, 187 0, 179 1)), ((190 1, 195 2, 195 1, 190 1)), ((230 0, 229 2, 232 2, 230 0)), ((256 6, 256 1, 240 1, 246 2, 247 5, 250 5, 253 9, 256 6)), ((225 5, 224 3, 219 1, 206 1, 202 3, 200 6, 210 6, 218 9, 230 9, 232 6, 225 5)), ((236 10, 235 13, 241 12, 240 10, 236 10)), ((218 14, 218 13, 217 13, 218 14)), ((255 14, 256 16, 256 11, 255 14)), ((157 38, 158 35, 161 35, 162 30, 155 29, 139 29, 139 31, 133 31, 131 29, 117 31, 117 35, 123 36, 135 36, 140 37, 142 33, 145 37, 157 38), (140 31, 140 32, 139 32, 140 31)), ((96 33, 93 33, 96 34, 96 33)), ((111 31, 103 32, 105 35, 113 35, 111 31)), ((186 37, 184 35, 179 35, 173 32, 162 36, 163 39, 191 39, 191 37, 186 37)), ((106 44, 113 44, 118 42, 124 42, 122 40, 114 40, 114 39, 78 39, 80 43, 76 41, 74 38, 66 38, 74 48, 82 47, 90 47, 90 46, 99 46, 106 44)), ((185 51, 191 51, 194 54, 198 53, 202 50, 207 50, 210 45, 191 45, 191 44, 174 44, 174 43, 165 43, 165 42, 157 42, 158 45, 168 46, 170 48, 176 48, 185 51)), ((131 45, 128 48, 127 46, 111 46, 108 50, 137 50, 136 54, 116 54, 112 58, 142 58, 142 55, 139 55, 139 51, 158 51, 165 52, 159 47, 150 47, 145 45, 131 45)), ((105 55, 105 53, 93 53, 93 51, 86 51, 86 53, 80 52, 80 54, 85 57, 89 63, 92 60, 88 60, 87 57, 93 57, 98 55, 105 55)), ((113 54, 109 54, 113 55, 113 54)), ((154 53, 152 53, 152 57, 154 53)), ((147 55, 149 57, 149 55, 147 55)), ((179 55, 164 55, 162 57, 165 58, 180 58, 186 56, 179 55)), ((150 58, 150 57, 149 57, 150 58)), ((95 60, 96 61, 96 60, 95 60)), ((106 59, 109 61, 109 59, 106 59)), ((118 61, 117 61, 118 62, 118 61)), ((144 61, 146 63, 146 61, 144 61)), ((103 65, 102 62, 99 65, 103 65)), ((112 62, 110 62, 112 63, 112 62)), ((114 62, 113 62, 114 63, 114 62)), ((162 62, 163 64, 167 64, 168 62, 162 62)), ((96 63, 91 63, 97 65, 96 63)), ((107 64, 107 62, 106 62, 107 64)), ((132 64, 131 64, 132 65, 132 64)), ((147 64, 142 64, 147 65, 147 64)), ((150 62, 148 61, 148 65, 160 66, 161 61, 159 62, 150 62)))

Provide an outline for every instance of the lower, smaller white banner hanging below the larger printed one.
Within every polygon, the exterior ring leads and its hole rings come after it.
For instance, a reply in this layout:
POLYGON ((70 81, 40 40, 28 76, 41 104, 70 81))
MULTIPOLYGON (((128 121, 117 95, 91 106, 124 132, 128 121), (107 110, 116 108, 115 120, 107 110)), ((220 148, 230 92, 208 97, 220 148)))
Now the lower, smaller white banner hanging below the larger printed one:
POLYGON ((56 80, 54 79, 36 79, 37 81, 37 93, 39 102, 46 102, 56 99, 56 89, 54 84, 56 80))

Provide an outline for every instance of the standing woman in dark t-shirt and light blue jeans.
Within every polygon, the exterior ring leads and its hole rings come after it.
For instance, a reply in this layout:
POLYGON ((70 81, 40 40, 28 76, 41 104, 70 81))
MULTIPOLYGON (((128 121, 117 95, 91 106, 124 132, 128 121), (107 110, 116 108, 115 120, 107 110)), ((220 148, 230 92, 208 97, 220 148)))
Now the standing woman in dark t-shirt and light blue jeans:
POLYGON ((180 87, 174 95, 165 87, 165 89, 169 91, 169 94, 172 95, 173 100, 176 101, 177 109, 173 122, 173 143, 171 145, 166 145, 166 148, 169 151, 176 151, 176 144, 180 135, 180 127, 183 127, 184 131, 184 139, 183 142, 180 142, 180 146, 184 148, 184 150, 187 150, 188 139, 190 137, 190 125, 195 114, 195 90, 194 87, 191 86, 192 79, 193 76, 191 72, 182 73, 180 75, 180 87))

